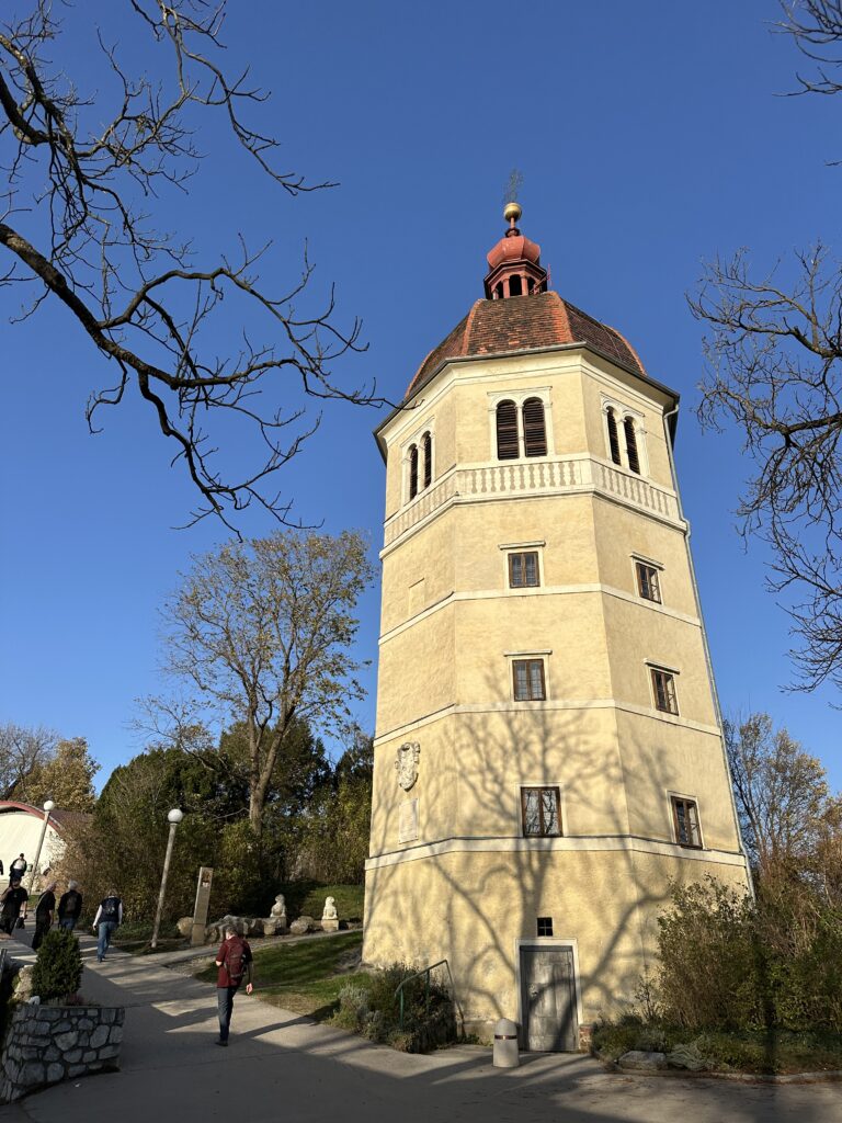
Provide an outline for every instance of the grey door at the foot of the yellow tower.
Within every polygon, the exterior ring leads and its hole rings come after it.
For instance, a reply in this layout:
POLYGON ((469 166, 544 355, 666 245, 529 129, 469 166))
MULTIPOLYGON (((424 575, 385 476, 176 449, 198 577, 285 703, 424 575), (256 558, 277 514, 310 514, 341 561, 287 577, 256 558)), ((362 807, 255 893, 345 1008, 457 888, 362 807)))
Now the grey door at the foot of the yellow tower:
POLYGON ((576 980, 571 948, 521 948, 521 1046, 537 1052, 576 1052, 576 980))

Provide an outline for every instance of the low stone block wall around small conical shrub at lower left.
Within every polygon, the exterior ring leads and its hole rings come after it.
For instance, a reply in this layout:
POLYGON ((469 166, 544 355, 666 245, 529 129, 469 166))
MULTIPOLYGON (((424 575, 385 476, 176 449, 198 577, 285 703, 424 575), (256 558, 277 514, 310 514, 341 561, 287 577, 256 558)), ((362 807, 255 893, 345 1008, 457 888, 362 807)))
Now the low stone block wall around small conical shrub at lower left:
POLYGON ((121 1006, 17 1006, 0 1057, 0 1103, 119 1068, 125 1017, 121 1006))

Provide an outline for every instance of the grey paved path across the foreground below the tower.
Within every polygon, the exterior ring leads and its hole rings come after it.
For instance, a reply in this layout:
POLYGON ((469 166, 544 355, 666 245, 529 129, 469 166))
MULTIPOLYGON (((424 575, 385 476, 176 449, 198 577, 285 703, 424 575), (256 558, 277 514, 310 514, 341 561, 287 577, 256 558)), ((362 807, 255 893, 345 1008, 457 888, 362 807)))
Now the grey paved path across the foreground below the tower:
POLYGON ((571 1054, 497 1070, 487 1049, 411 1057, 245 995, 219 1049, 212 987, 152 957, 99 965, 82 942, 83 993, 128 1007, 122 1071, 2 1107, 0 1123, 842 1123, 840 1084, 615 1076, 571 1054))

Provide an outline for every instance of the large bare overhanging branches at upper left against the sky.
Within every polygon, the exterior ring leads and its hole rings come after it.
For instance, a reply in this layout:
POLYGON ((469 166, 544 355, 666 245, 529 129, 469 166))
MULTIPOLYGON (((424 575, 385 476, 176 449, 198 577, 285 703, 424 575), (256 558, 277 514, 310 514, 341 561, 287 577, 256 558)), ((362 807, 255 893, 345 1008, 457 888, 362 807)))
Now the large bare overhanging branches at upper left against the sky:
MULTIPOLYGON (((104 73, 93 66, 94 73, 85 67, 81 75, 91 90, 104 83, 95 100, 62 69, 62 26, 49 0, 0 24, 0 164, 8 175, 0 245, 10 255, 0 284, 31 290, 24 316, 44 301, 64 305, 113 365, 112 384, 88 402, 92 431, 101 407, 119 404, 130 385, 137 387, 199 490, 193 521, 213 513, 230 524, 232 512, 251 501, 285 521, 289 503, 273 491, 274 473, 318 424, 304 422, 294 402, 302 392, 376 401, 367 390, 341 389, 332 373, 341 355, 363 349, 359 323, 347 330, 337 325, 332 289, 322 307, 299 310, 312 276, 306 255, 300 279, 272 293, 257 275, 266 247, 250 252, 240 244, 236 257, 196 263, 187 244, 153 223, 148 207, 199 171, 196 111, 220 115, 286 194, 328 184, 276 171, 276 141, 244 117, 265 94, 248 71, 229 75, 221 66, 226 0, 125 3, 137 45, 152 48, 153 63, 161 54, 168 76, 130 74, 100 28, 104 73), (265 321, 259 340, 246 332, 254 312, 265 321), (216 337, 211 347, 211 332, 228 340, 222 354, 216 337), (213 456, 228 431, 226 419, 246 426, 257 450, 255 463, 234 478, 220 474, 213 456)), ((116 18, 113 9, 109 16, 116 18)))

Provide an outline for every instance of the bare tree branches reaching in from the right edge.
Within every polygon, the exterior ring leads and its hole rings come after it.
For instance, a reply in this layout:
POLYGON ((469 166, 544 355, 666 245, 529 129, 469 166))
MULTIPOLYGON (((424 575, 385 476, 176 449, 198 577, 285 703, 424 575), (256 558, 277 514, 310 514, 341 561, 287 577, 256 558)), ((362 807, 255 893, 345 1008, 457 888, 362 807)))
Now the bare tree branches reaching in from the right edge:
MULTIPOLYGON (((842 0, 782 7, 781 29, 816 72, 798 92, 838 93, 842 0)), ((741 250, 707 267, 690 307, 710 328, 701 418, 734 422, 754 464, 740 513, 771 546, 798 685, 842 686, 842 268, 818 244, 756 277, 741 250)))

